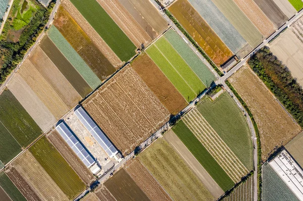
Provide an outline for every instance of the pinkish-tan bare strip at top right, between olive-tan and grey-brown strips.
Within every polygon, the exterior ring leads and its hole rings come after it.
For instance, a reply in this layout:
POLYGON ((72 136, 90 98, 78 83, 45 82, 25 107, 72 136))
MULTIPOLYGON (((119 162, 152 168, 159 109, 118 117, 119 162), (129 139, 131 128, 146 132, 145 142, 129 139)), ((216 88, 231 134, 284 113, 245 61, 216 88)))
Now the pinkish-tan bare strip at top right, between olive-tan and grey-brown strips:
POLYGON ((254 23, 262 35, 267 38, 275 31, 274 24, 266 17, 253 0, 234 0, 243 13, 254 23))

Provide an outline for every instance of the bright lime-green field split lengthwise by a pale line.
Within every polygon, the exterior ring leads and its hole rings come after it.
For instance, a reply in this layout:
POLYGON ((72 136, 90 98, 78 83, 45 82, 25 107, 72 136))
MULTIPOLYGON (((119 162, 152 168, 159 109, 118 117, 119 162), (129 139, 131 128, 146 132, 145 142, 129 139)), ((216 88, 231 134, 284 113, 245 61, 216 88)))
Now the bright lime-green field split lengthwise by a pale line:
POLYGON ((197 75, 173 48, 165 37, 146 49, 148 56, 177 88, 187 102, 192 101, 206 89, 197 75))

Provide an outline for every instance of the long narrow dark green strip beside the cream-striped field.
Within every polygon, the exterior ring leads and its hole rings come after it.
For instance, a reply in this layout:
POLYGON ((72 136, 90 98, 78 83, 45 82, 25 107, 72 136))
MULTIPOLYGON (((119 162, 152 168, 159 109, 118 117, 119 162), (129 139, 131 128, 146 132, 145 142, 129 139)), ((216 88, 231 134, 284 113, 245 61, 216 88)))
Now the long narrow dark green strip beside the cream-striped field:
POLYGON ((206 150, 206 148, 198 141, 182 120, 179 121, 172 129, 192 155, 199 161, 206 171, 208 171, 224 191, 232 188, 235 183, 221 168, 213 156, 206 150))

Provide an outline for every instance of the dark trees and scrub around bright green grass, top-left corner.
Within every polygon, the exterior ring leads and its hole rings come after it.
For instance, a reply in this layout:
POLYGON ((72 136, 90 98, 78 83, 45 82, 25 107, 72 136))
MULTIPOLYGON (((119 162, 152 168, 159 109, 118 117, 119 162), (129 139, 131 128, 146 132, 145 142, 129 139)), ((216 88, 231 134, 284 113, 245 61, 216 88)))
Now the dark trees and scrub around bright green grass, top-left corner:
POLYGON ((18 33, 12 33, 14 32, 14 28, 12 28, 14 22, 13 16, 18 12, 19 3, 20 1, 14 1, 9 18, 6 21, 0 36, 0 83, 3 83, 6 80, 7 76, 23 59, 26 51, 34 44, 38 35, 44 29, 55 5, 54 3, 51 3, 48 8, 45 9, 37 2, 32 2, 37 10, 30 22, 23 26, 22 29, 18 30, 18 33))

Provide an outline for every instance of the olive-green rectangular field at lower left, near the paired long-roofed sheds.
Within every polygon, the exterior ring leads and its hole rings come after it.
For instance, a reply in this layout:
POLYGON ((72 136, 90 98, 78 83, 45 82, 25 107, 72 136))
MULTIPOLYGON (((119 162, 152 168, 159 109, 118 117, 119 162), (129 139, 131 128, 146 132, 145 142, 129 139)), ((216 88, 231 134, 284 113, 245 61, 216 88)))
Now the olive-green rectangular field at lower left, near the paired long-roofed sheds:
POLYGON ((31 146, 29 151, 70 199, 85 189, 79 176, 45 136, 31 146))

